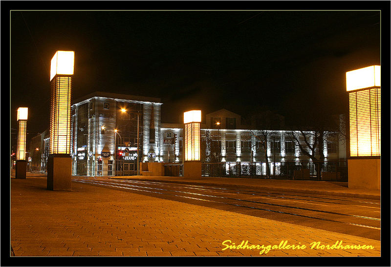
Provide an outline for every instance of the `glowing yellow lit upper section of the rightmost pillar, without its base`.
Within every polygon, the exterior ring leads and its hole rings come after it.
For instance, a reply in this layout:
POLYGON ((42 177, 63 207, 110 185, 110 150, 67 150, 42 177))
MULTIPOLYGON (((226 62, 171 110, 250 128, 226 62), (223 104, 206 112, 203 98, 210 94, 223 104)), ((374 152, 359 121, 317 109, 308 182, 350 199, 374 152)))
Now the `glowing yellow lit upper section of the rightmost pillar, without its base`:
POLYGON ((350 156, 380 156, 380 66, 346 73, 350 156))

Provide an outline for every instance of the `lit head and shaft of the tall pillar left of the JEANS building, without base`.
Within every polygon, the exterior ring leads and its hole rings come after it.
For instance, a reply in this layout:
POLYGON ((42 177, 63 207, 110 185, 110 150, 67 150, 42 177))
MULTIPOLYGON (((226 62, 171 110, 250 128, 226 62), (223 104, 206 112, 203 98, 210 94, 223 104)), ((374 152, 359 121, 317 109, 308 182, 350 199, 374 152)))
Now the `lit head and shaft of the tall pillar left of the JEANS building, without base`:
POLYGON ((73 51, 57 51, 51 61, 50 154, 70 153, 73 62, 73 51))

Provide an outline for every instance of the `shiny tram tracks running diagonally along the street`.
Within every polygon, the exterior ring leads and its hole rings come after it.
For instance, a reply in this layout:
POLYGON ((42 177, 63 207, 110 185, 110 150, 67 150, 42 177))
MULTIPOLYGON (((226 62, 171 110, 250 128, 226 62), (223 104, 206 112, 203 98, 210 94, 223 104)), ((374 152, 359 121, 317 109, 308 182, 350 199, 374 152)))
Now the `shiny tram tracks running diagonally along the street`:
MULTIPOLYGON (((271 203, 270 201, 264 202, 264 201, 258 201, 258 200, 249 200, 249 199, 242 199, 242 198, 234 198, 229 196, 221 196, 219 194, 225 194, 225 195, 238 195, 239 192, 243 192, 241 194, 248 196, 258 196, 259 191, 250 191, 250 190, 236 190, 236 189, 229 189, 229 188, 222 188, 222 187, 209 187, 209 186, 192 186, 192 185, 178 185, 178 184, 170 184, 170 183, 154 183, 154 182, 146 182, 146 181, 134 181, 134 180, 115 180, 110 179, 109 181, 107 179, 105 180, 97 180, 97 179, 74 179, 75 182, 81 182, 91 185, 98 185, 98 186, 109 186, 121 190, 131 190, 133 192, 137 193, 146 193, 148 195, 152 194, 152 196, 160 197, 160 198, 167 198, 172 199, 180 202, 186 202, 187 200, 193 200, 196 202, 201 203, 209 203, 208 205, 217 205, 217 208, 223 208, 223 206, 231 206, 231 207, 237 207, 240 209, 240 213, 246 213, 248 210, 253 211, 260 211, 260 212, 269 212, 269 213, 275 213, 280 214, 282 216, 295 216, 298 218, 302 218, 301 220, 310 219, 311 221, 322 221, 322 222, 329 222, 334 224, 342 224, 345 226, 352 226, 352 227, 359 227, 359 228, 367 228, 371 231, 376 231, 380 233, 380 218, 370 217, 370 216, 363 216, 363 215, 357 215, 357 214, 346 214, 341 212, 334 212, 334 211, 327 211, 327 210, 320 210, 315 208, 306 208, 306 207, 298 207, 298 206, 292 206, 292 205, 282 205, 282 204, 276 204, 271 203), (159 188, 163 187, 163 188, 159 188), (169 188, 167 188, 169 187, 169 188), (178 189, 182 188, 182 189, 178 189), (176 189, 176 190, 175 190, 176 189), (184 191, 184 190, 190 190, 184 191), (191 192, 191 191, 195 192, 191 192), (208 191, 208 193, 206 193, 208 191), (236 192, 235 192, 236 191, 236 192), (250 193, 249 193, 250 192, 250 193), (217 195, 213 195, 213 193, 217 195), (175 198, 175 199, 174 199, 175 198), (251 203, 246 204, 246 203, 251 203), (274 207, 274 208, 273 208, 274 207), (244 209, 244 210, 242 210, 244 209), (296 211, 300 211, 299 213, 296 211), (321 216, 323 214, 323 216, 321 216)), ((266 193, 266 192, 265 192, 266 193)), ((276 199, 270 199, 273 201, 279 200, 280 198, 285 198, 281 196, 274 196, 273 194, 270 194, 267 192, 268 196, 276 198, 276 199)), ((284 194, 287 195, 287 194, 284 194)), ((264 195, 261 195, 261 197, 264 197, 264 195)), ((295 196, 292 194, 288 194, 288 196, 295 196)), ((307 196, 301 196, 306 199, 300 199, 304 200, 307 203, 304 204, 314 204, 310 203, 312 202, 323 202, 319 199, 311 200, 311 197, 307 196), (309 202, 309 203, 308 203, 309 202)), ((289 197, 288 197, 289 198, 289 197)), ((315 197, 315 198, 322 198, 322 197, 315 197)), ((292 199, 292 198, 291 198, 292 199)), ((297 198, 293 198, 296 199, 297 198)), ((331 202, 335 205, 348 205, 347 202, 353 202, 357 203, 355 200, 348 200, 348 199, 338 199, 339 202, 331 202)), ((279 200, 281 201, 281 199, 279 200)), ((291 200, 287 200, 291 201, 291 200)), ((335 201, 335 200, 334 200, 335 201)), ((326 202, 330 203, 330 202, 326 202)), ((195 204, 195 203, 191 203, 195 204)), ((373 205, 377 205, 377 203, 372 203, 373 205)), ((196 204, 201 205, 201 204, 196 204)), ((352 203, 350 203, 352 205, 352 203)), ((356 205, 359 206, 359 205, 356 205)), ((376 207, 372 207, 376 208, 376 207)), ((224 208, 223 208, 224 209, 224 208)), ((234 210, 234 212, 237 212, 234 210)), ((261 217, 261 218, 270 218, 273 216, 270 216, 266 214, 267 216, 264 216, 264 214, 256 214, 253 216, 261 217)), ((297 221, 295 219, 292 219, 292 221, 297 221)), ((315 225, 322 225, 322 224, 315 224, 315 225)), ((351 234, 351 233, 350 233, 351 234)), ((376 234, 371 234, 372 239, 378 239, 373 238, 373 236, 377 236, 376 234)), ((380 234, 379 234, 380 236, 380 234)))

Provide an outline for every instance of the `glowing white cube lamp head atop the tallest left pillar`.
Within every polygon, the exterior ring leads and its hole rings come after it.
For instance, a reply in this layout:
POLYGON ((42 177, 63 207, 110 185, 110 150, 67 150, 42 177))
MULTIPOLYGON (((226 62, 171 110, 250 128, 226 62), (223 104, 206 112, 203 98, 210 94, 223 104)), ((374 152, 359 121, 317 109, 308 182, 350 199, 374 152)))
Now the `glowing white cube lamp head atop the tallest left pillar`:
POLYGON ((50 81, 56 74, 73 75, 74 51, 57 51, 50 62, 50 81))

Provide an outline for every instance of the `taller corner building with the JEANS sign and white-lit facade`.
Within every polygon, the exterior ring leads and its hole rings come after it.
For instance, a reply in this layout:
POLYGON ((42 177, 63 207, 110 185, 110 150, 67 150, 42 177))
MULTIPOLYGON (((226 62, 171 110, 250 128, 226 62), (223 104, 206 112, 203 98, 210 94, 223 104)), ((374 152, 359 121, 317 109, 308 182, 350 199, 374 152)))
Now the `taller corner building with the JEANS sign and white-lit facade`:
POLYGON ((105 92, 76 100, 71 117, 72 174, 135 175, 137 113, 139 162, 157 160, 161 104, 157 98, 105 92))

